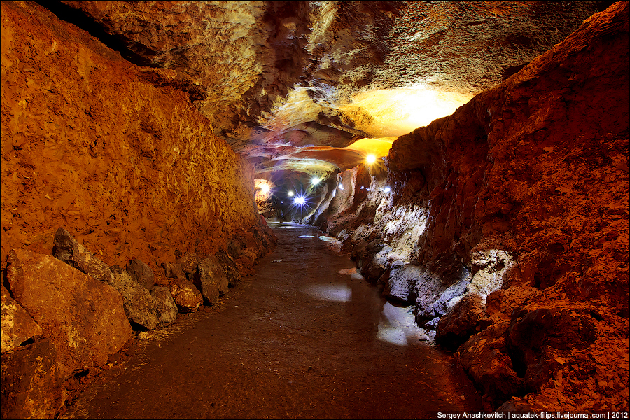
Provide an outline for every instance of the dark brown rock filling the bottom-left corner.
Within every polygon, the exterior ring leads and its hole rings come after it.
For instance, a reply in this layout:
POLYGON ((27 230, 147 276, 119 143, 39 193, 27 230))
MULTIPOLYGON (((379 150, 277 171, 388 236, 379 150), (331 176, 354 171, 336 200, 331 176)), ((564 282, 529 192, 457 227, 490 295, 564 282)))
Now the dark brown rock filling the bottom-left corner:
POLYGON ((44 338, 3 354, 0 413, 3 419, 54 419, 62 405, 57 351, 44 338))

